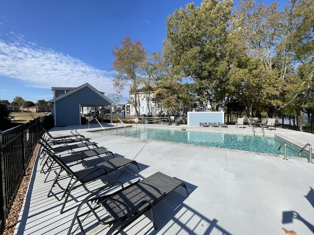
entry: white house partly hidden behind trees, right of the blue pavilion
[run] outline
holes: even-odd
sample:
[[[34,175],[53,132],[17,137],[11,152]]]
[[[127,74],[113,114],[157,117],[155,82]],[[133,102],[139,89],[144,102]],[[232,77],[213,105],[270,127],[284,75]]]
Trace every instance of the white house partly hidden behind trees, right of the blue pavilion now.
[[[165,115],[166,113],[163,111],[163,104],[155,102],[155,92],[150,91],[149,93],[144,92],[143,89],[138,90],[137,100],[137,111],[141,116],[159,116]],[[130,100],[134,100],[135,93],[129,93]],[[148,102],[147,102],[148,101]],[[125,104],[125,113],[126,115],[135,116],[135,107],[131,103]]]

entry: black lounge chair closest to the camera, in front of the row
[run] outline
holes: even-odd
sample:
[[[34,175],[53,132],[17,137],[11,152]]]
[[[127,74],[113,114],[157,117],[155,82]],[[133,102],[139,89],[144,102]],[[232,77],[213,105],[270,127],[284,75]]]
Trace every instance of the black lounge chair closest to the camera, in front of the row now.
[[[117,191],[94,197],[104,191],[107,193],[113,184],[108,185],[95,191],[95,193],[81,202],[70,225],[68,235],[70,235],[76,220],[78,221],[81,233],[85,235],[80,217],[85,217],[90,212],[95,215],[100,224],[111,226],[106,233],[107,235],[113,234],[116,230],[117,232],[114,234],[123,231],[146,211],[150,211],[154,229],[157,230],[154,214],[154,206],[157,202],[180,186],[186,189],[188,195],[186,184],[183,181],[174,179],[161,172],[157,172],[144,180],[138,180],[129,186],[124,187],[121,182],[118,183],[121,188]],[[89,211],[79,214],[84,204],[87,204]],[[105,209],[108,215],[104,219],[101,219],[96,212],[101,207]],[[108,217],[111,217],[111,219],[108,219]]]

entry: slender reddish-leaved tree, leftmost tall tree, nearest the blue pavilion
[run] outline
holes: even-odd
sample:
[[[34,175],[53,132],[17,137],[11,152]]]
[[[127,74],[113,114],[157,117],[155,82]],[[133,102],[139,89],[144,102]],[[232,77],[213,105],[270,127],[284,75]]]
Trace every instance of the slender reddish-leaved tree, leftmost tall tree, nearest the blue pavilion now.
[[[131,42],[130,37],[124,37],[121,47],[115,46],[112,50],[115,60],[112,68],[116,71],[116,77],[113,79],[115,90],[120,92],[125,85],[130,85],[130,93],[134,93],[134,100],[130,100],[135,107],[137,117],[140,116],[138,90],[143,80],[140,77],[140,69],[145,60],[146,49],[142,47],[141,41]]]

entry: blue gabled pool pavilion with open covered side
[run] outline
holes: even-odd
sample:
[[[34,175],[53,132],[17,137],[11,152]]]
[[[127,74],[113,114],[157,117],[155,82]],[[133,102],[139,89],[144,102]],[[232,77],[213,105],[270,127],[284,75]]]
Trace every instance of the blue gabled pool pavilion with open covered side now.
[[[58,88],[53,88],[57,90]],[[60,88],[65,91],[64,88]],[[54,94],[57,94],[54,91]],[[78,88],[64,92],[49,101],[52,104],[54,126],[81,125],[82,107],[110,106],[110,120],[112,122],[111,106],[113,102],[103,93],[96,90],[90,84],[85,83]]]

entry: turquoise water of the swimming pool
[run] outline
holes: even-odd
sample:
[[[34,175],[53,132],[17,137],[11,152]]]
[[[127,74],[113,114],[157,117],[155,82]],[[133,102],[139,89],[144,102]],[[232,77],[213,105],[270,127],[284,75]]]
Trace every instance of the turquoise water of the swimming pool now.
[[[277,154],[277,149],[282,143],[282,140],[277,137],[153,128],[127,131],[127,134],[121,133],[118,135],[270,154]],[[299,151],[301,149],[298,146],[288,142],[286,143],[287,156],[299,157]],[[280,149],[279,154],[284,155],[284,146]],[[302,157],[307,158],[308,154],[303,151]]]

